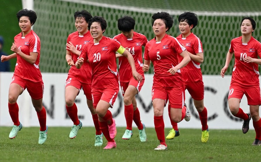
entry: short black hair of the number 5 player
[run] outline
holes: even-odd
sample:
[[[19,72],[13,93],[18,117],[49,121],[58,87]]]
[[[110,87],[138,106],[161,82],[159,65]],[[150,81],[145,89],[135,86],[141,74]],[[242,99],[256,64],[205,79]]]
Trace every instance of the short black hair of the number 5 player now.
[[[172,27],[173,22],[174,22],[173,17],[167,12],[158,12],[158,13],[153,14],[153,16],[152,16],[152,26],[153,26],[154,21],[156,19],[162,19],[163,22],[166,25],[166,28],[168,28],[168,30],[170,30],[170,28]]]

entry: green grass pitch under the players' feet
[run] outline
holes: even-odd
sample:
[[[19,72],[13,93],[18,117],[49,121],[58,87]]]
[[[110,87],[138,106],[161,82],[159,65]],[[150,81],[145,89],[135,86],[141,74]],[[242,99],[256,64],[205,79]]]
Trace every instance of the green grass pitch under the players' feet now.
[[[9,139],[11,128],[0,127],[0,161],[260,161],[259,146],[251,146],[255,131],[210,130],[207,143],[200,141],[199,129],[180,129],[181,135],[167,140],[168,150],[155,151],[159,144],[154,128],[146,128],[148,141],[139,141],[137,128],[130,140],[121,139],[125,128],[117,128],[117,148],[104,150],[94,146],[94,127],[83,127],[75,139],[69,139],[69,127],[49,127],[46,143],[38,144],[39,128],[23,128]],[[169,129],[165,129],[167,135]]]

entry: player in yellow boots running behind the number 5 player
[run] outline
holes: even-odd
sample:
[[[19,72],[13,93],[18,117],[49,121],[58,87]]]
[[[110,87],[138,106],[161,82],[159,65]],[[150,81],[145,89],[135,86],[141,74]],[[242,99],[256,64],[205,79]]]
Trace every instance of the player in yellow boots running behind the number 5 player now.
[[[184,12],[179,16],[178,21],[181,34],[176,38],[186,48],[191,58],[188,65],[180,70],[185,83],[185,90],[189,91],[199,113],[202,124],[201,141],[207,142],[209,139],[209,130],[207,125],[207,109],[204,106],[204,83],[200,68],[200,64],[204,60],[203,48],[200,39],[191,32],[197,26],[197,15],[193,12]],[[182,57],[179,56],[178,60],[181,61]],[[171,125],[173,129],[169,132],[166,139],[173,139],[180,134],[177,123],[171,121]]]

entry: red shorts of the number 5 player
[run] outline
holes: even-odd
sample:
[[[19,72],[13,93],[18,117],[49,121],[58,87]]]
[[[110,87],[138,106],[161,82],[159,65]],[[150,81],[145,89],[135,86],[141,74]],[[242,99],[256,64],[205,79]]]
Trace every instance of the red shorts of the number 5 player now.
[[[155,98],[165,100],[165,106],[169,100],[171,108],[182,108],[185,101],[184,86],[162,87],[159,85],[153,85],[152,100]]]

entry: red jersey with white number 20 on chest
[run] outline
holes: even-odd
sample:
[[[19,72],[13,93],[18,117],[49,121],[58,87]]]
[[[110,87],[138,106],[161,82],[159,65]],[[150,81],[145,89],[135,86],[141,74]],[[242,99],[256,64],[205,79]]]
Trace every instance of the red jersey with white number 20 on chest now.
[[[79,58],[89,59],[92,67],[92,88],[119,87],[116,51],[120,43],[103,36],[99,43],[91,40],[84,45]]]

